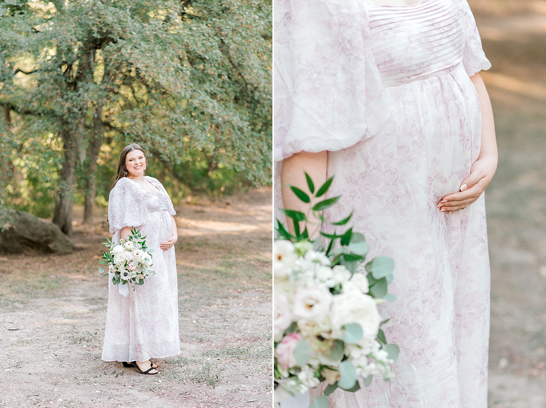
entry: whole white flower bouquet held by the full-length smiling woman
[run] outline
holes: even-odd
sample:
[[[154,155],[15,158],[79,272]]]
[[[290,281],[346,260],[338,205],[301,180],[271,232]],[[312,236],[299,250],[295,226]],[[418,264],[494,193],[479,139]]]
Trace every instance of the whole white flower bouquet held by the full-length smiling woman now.
[[[116,245],[109,238],[104,246],[110,248],[110,252],[104,251],[99,263],[108,265],[108,271],[102,267],[99,272],[103,276],[112,276],[114,285],[129,285],[133,283],[133,291],[136,285],[144,285],[146,276],[155,274],[152,269],[152,249],[148,249],[145,241],[146,236],[140,236],[140,229],[137,231],[131,229],[129,238],[120,239],[120,244]]]

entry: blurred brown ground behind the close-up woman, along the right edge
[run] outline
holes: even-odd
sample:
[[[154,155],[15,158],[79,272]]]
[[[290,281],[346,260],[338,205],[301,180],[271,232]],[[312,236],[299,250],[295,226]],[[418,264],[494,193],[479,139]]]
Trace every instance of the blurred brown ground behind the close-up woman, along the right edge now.
[[[546,2],[471,0],[492,69],[499,163],[485,194],[490,408],[546,406]],[[526,8],[525,8],[525,7]],[[531,13],[532,10],[535,10]]]

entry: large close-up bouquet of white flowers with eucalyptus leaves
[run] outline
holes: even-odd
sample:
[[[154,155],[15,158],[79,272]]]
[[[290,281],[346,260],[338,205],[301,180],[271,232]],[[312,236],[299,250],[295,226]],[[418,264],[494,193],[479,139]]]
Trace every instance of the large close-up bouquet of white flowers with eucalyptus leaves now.
[[[311,194],[314,185],[306,174]],[[334,205],[339,197],[322,197],[332,179],[309,197],[304,191],[291,186],[298,198],[308,203],[310,211],[328,224],[322,211]],[[308,215],[294,210],[283,210],[294,220],[290,234],[277,220],[277,240],[274,247],[274,336],[275,336],[275,401],[304,393],[321,381],[328,383],[324,394],[336,388],[354,392],[360,388],[358,376],[366,386],[374,375],[385,381],[393,377],[390,365],[398,357],[399,348],[387,344],[379,328],[386,323],[377,305],[395,300],[387,293],[393,280],[394,261],[379,256],[366,263],[364,270],[357,268],[364,262],[369,245],[362,234],[352,228],[338,234],[321,231],[322,239],[308,239]],[[349,222],[333,222],[343,226]],[[304,223],[301,231],[299,223]],[[333,227],[334,229],[336,227]],[[325,240],[325,242],[324,242]],[[329,242],[328,242],[329,240]],[[339,240],[339,244],[336,242]],[[358,270],[357,270],[358,269]],[[323,395],[315,399],[311,408],[328,408]]]

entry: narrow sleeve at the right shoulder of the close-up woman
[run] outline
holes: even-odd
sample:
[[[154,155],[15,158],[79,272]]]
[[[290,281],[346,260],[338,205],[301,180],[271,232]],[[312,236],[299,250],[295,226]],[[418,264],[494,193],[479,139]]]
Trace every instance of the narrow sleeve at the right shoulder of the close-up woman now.
[[[482,48],[482,39],[479,36],[476,20],[470,10],[467,0],[453,0],[453,4],[459,9],[462,25],[465,31],[465,49],[462,55],[462,65],[468,76],[472,76],[482,69],[491,68],[491,63],[485,56]]]

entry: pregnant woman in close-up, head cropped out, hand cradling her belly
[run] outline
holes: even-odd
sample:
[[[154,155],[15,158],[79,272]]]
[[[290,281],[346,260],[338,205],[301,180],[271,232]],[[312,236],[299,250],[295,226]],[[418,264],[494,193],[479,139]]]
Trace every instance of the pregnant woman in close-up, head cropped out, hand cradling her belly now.
[[[330,406],[486,408],[497,148],[466,0],[278,0],[275,30],[277,206],[304,209],[287,187],[304,170],[335,176],[325,216],[354,211],[370,258],[396,264],[382,310],[395,379]]]

